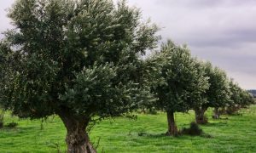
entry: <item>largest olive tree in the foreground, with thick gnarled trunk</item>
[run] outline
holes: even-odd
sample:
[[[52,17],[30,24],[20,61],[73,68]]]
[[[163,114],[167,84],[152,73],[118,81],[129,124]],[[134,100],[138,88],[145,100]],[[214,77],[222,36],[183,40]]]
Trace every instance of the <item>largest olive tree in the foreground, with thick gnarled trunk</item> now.
[[[60,116],[67,152],[96,152],[90,124],[150,99],[140,56],[155,47],[158,28],[125,1],[19,0],[9,18],[15,29],[4,41],[19,58],[1,103],[20,117]]]

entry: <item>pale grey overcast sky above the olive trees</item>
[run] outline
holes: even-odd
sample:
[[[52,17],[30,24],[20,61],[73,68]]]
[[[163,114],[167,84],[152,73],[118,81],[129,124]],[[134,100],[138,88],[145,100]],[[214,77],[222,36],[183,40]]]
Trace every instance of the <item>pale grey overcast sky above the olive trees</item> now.
[[[0,0],[0,31],[9,28]],[[193,55],[228,72],[241,88],[256,88],[256,0],[128,0],[160,26],[162,41],[188,44]],[[3,36],[0,36],[3,37]]]

